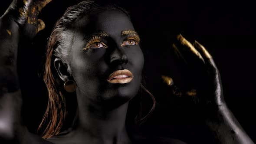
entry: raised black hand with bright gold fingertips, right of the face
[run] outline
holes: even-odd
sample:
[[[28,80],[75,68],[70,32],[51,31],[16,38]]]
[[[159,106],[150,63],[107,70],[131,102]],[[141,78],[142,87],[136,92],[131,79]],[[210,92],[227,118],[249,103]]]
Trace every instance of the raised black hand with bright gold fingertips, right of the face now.
[[[220,73],[209,52],[197,41],[192,45],[181,35],[177,36],[173,50],[184,83],[181,88],[172,85],[174,95],[192,99],[206,113],[225,104]],[[171,79],[163,79],[171,85]]]

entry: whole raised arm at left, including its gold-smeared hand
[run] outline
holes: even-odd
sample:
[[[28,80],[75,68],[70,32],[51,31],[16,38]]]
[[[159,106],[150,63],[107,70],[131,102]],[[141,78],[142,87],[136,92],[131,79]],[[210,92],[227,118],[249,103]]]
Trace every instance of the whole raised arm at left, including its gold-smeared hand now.
[[[21,138],[26,127],[21,118],[21,92],[17,74],[20,39],[28,43],[44,28],[39,11],[50,0],[13,0],[0,17],[0,141]]]

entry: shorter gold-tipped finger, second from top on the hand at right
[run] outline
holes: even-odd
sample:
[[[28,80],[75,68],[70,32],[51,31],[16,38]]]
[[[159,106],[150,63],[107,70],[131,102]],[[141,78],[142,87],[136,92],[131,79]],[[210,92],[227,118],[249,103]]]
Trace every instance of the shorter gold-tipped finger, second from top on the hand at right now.
[[[198,52],[201,53],[201,56],[203,57],[203,59],[205,60],[205,63],[207,65],[211,65],[214,68],[216,68],[215,62],[213,61],[212,56],[210,55],[210,53],[207,51],[207,49],[205,49],[204,46],[202,46],[200,43],[198,43],[197,41],[194,42],[194,47],[198,50]]]

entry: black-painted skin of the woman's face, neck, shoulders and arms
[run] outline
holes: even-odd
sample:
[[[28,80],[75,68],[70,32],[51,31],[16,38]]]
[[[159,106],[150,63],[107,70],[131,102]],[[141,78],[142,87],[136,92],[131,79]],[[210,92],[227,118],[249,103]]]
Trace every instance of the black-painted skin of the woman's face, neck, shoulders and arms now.
[[[38,1],[29,1],[27,7],[30,7],[30,2],[37,3]],[[43,0],[43,3],[48,2],[49,0]],[[60,70],[59,68],[64,64],[61,59],[55,59],[54,64],[59,77],[64,82],[73,79],[77,83],[78,125],[68,134],[47,140],[30,134],[20,116],[22,99],[16,72],[16,57],[21,37],[33,38],[37,33],[36,29],[42,27],[42,22],[29,24],[27,17],[19,15],[19,8],[24,7],[23,0],[14,1],[10,7],[14,9],[8,9],[0,18],[1,141],[10,144],[153,143],[150,139],[144,138],[131,140],[125,129],[128,102],[138,92],[144,58],[139,45],[121,46],[125,39],[121,36],[121,32],[135,29],[128,16],[118,10],[100,10],[76,21],[70,29],[70,33],[74,33],[75,36],[73,45],[70,46],[67,69]],[[37,15],[35,17],[37,18]],[[20,21],[25,23],[20,23]],[[11,34],[7,32],[7,29]],[[89,49],[83,52],[84,37],[103,31],[109,35],[108,39],[103,39],[108,48]],[[211,104],[204,108],[211,115],[205,115],[203,118],[215,134],[217,143],[253,144],[223,100],[220,74],[213,59],[207,57],[199,43],[195,43],[195,48],[204,60],[198,59],[198,56],[194,55],[187,45],[180,44],[182,39],[181,36],[178,38],[177,51],[187,62],[191,60],[193,65],[203,65],[208,70],[206,72],[209,78],[207,83],[211,89],[205,93],[207,95],[205,101],[211,101]],[[134,75],[132,81],[125,85],[108,83],[106,81],[108,75],[118,69],[130,70]],[[206,71],[206,69],[201,70]],[[203,115],[202,111],[199,112]],[[181,141],[170,138],[158,139],[154,143],[159,144],[164,141],[170,144],[183,144]]]

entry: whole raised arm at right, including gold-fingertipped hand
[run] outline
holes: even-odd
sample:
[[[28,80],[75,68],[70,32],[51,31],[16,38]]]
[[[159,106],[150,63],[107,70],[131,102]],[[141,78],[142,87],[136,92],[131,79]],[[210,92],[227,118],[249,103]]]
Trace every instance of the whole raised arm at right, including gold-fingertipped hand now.
[[[182,75],[188,81],[183,93],[191,88],[196,89],[196,95],[186,96],[198,99],[197,112],[215,137],[216,143],[254,144],[226,106],[220,73],[209,52],[200,43],[195,41],[192,45],[181,35],[177,36],[173,48],[184,72]]]

